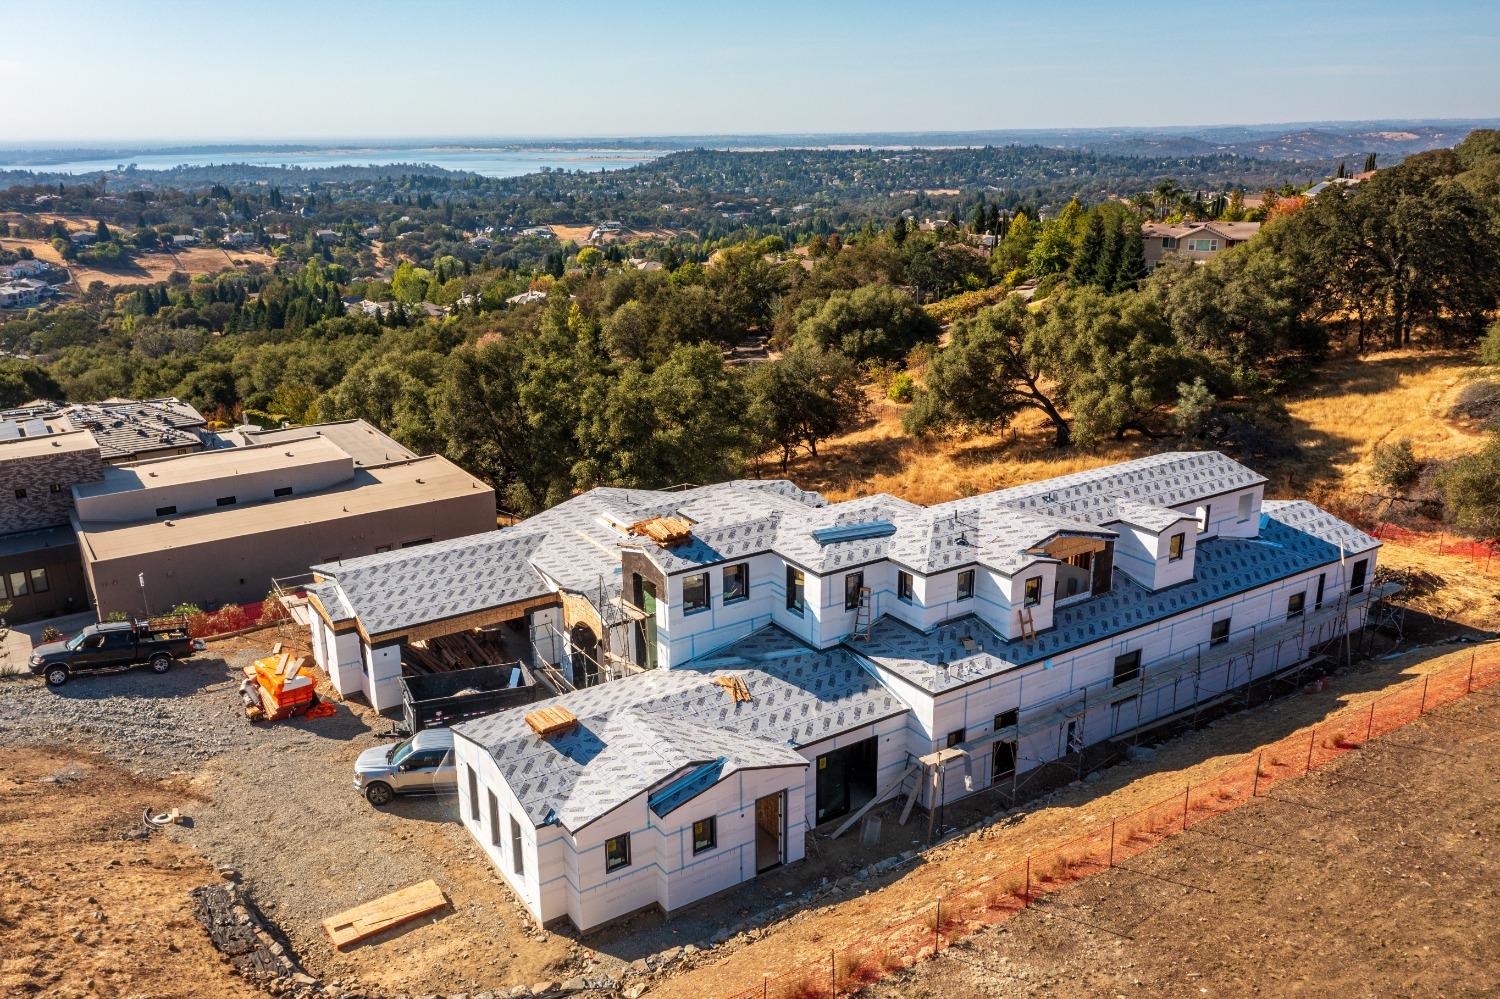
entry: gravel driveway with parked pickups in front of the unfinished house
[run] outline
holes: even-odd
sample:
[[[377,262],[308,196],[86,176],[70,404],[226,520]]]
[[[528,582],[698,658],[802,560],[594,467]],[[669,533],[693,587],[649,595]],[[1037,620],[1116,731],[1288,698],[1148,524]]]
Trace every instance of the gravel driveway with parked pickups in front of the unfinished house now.
[[[0,747],[60,744],[152,777],[178,776],[182,801],[150,802],[188,814],[190,824],[168,834],[232,868],[326,981],[452,993],[579,968],[570,940],[524,916],[458,822],[456,795],[376,810],[352,789],[354,758],[394,741],[392,720],[339,704],[327,718],[249,724],[237,690],[258,654],[210,648],[160,676],[136,669],[56,688],[34,676],[0,680]],[[322,918],[428,878],[450,912],[348,952],[328,945]]]

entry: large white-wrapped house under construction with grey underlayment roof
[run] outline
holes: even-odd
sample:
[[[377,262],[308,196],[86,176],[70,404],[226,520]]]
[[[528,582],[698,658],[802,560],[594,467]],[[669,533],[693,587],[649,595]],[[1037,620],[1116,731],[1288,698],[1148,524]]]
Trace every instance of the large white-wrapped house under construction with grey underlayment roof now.
[[[788,482],[592,489],[504,531],[314,567],[334,687],[508,628],[579,687],[454,728],[460,814],[540,922],[664,910],[916,788],[936,808],[1305,663],[1378,542],[1215,453],[934,507]]]

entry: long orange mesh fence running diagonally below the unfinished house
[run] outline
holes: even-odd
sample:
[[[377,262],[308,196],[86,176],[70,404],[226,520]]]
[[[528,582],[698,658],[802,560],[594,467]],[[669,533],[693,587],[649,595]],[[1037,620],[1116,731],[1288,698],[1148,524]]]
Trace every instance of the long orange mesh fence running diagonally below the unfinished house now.
[[[766,975],[726,999],[838,999],[922,962],[954,940],[1010,920],[1036,898],[1106,872],[1184,830],[1232,812],[1282,780],[1300,777],[1416,720],[1436,706],[1500,682],[1500,648],[1410,680],[1350,706],[1308,732],[1258,748],[1182,794],[1113,819],[1068,843],[938,898],[930,909],[876,930],[858,944],[780,975]]]

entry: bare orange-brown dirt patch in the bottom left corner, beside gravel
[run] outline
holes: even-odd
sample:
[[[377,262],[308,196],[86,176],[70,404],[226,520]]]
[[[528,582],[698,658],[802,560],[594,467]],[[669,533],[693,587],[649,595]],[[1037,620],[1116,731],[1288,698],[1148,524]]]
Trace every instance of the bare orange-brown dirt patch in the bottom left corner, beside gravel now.
[[[196,802],[178,780],[94,753],[22,747],[0,768],[0,996],[249,999],[194,921],[188,891],[219,878],[141,828],[146,806]]]

